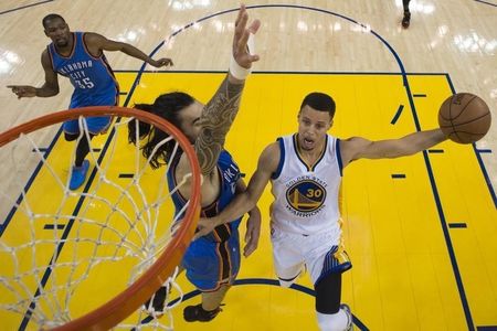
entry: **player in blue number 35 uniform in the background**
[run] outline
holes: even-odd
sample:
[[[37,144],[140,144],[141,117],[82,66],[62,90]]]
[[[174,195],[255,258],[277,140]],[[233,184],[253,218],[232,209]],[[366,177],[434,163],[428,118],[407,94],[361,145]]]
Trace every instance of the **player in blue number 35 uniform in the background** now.
[[[8,86],[19,98],[57,95],[59,74],[70,78],[74,86],[68,108],[118,105],[119,86],[104,51],[120,51],[155,67],[172,65],[170,58],[155,61],[127,43],[112,41],[97,33],[71,32],[65,20],[59,14],[49,14],[42,22],[45,35],[52,40],[52,43],[43,51],[41,58],[45,72],[45,84],[42,87]],[[110,120],[112,118],[108,116],[86,118],[89,138],[105,134]],[[78,120],[64,122],[63,130],[67,141],[77,140],[80,137]],[[85,181],[89,168],[88,160],[85,160],[88,152],[89,142],[86,137],[82,137],[76,147],[75,164],[70,181],[71,190],[76,190]]]

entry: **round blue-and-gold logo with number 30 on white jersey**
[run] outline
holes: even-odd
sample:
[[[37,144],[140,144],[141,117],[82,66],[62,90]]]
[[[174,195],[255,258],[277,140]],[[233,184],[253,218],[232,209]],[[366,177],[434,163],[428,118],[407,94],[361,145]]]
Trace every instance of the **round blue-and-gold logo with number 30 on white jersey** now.
[[[298,181],[286,191],[286,201],[296,211],[310,213],[318,210],[326,199],[325,188],[310,180]]]

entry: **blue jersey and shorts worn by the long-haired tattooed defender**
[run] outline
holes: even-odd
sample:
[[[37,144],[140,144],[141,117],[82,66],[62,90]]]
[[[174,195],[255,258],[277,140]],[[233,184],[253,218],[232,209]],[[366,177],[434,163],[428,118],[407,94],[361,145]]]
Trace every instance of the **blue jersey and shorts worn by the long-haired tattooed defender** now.
[[[178,158],[179,159],[179,158]],[[172,161],[168,172],[169,189],[177,186],[175,179],[178,160]],[[240,169],[231,154],[223,150],[218,160],[220,177],[220,194],[209,206],[202,207],[201,216],[210,217],[219,214],[234,197]],[[178,214],[184,206],[186,199],[181,193],[172,193],[172,201]],[[178,217],[177,220],[180,220]],[[210,234],[192,242],[187,248],[182,266],[187,278],[202,291],[216,290],[222,284],[232,284],[240,270],[239,225],[241,217],[228,224],[219,225]]]

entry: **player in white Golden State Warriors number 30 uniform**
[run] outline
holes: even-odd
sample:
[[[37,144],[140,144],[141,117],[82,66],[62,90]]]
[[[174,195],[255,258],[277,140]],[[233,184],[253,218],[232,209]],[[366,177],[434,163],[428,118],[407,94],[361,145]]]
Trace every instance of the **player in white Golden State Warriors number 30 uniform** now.
[[[289,287],[306,266],[314,281],[322,331],[352,330],[350,309],[340,305],[341,274],[351,268],[341,247],[339,188],[343,169],[358,159],[414,154],[446,139],[435,129],[392,140],[340,140],[327,135],[334,115],[330,96],[307,95],[298,113],[298,132],[267,146],[247,190],[220,215],[200,220],[195,235],[200,237],[253,209],[271,181],[275,199],[271,235],[279,284]]]

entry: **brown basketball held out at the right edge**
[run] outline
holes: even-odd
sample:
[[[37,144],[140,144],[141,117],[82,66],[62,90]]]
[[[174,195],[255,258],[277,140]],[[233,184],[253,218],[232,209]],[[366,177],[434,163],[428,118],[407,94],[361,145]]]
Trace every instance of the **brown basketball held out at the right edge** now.
[[[488,132],[490,124],[487,104],[470,93],[450,96],[438,110],[440,128],[448,139],[458,143],[478,141]]]

